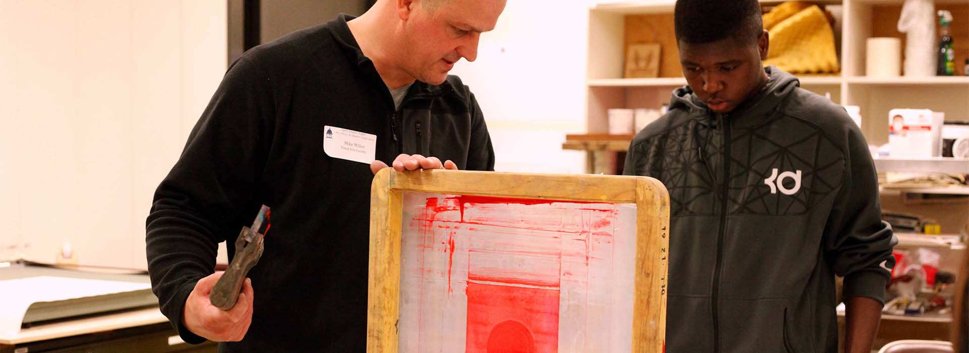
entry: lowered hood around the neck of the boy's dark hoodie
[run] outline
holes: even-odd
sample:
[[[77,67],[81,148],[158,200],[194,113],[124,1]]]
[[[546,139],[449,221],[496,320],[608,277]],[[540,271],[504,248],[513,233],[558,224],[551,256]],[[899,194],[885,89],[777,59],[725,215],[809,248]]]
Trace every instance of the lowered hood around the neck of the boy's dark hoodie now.
[[[770,111],[777,109],[797,87],[800,87],[800,81],[795,75],[777,70],[773,65],[766,67],[764,71],[769,76],[764,89],[730,113],[731,123],[737,128],[747,128],[762,122],[763,119],[756,118],[764,117]],[[702,120],[704,124],[716,117],[706,103],[693,93],[689,85],[672,91],[670,110],[672,109],[685,109],[691,116]]]

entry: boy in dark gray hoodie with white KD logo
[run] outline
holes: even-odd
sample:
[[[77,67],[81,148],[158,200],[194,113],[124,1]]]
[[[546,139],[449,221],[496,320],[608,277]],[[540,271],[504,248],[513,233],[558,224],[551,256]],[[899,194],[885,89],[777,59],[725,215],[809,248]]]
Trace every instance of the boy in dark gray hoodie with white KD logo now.
[[[688,86],[633,139],[625,173],[670,191],[667,352],[868,353],[897,243],[844,108],[764,68],[757,0],[678,0]]]

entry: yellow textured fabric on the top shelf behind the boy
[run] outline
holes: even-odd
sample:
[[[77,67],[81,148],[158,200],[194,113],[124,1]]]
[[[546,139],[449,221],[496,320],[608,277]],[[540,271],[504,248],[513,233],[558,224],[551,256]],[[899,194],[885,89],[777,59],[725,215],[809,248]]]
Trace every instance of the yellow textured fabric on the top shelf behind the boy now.
[[[818,6],[811,5],[781,20],[767,32],[770,33],[770,48],[765,65],[795,74],[840,72],[834,52],[834,31],[828,16]]]

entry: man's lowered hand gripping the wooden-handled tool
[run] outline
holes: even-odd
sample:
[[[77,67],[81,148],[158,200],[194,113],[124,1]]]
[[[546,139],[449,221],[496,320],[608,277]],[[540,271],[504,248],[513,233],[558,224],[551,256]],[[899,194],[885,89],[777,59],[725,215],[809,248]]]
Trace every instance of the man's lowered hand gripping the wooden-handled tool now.
[[[218,309],[209,302],[208,295],[223,274],[225,272],[219,271],[199,279],[185,301],[181,322],[193,334],[203,338],[217,342],[242,340],[252,323],[252,281],[245,279],[242,283],[242,293],[232,309]]]

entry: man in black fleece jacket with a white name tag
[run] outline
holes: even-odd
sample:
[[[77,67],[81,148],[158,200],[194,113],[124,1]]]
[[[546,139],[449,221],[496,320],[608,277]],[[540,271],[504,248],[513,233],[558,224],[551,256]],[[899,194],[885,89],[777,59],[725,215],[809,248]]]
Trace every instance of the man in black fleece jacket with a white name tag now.
[[[232,65],[147,218],[152,288],[181,338],[223,352],[364,351],[372,173],[494,168],[482,111],[448,72],[475,60],[504,6],[380,0]],[[331,129],[374,135],[370,167],[325,150]],[[263,257],[234,308],[216,309],[217,246],[233,254],[262,204]]]

